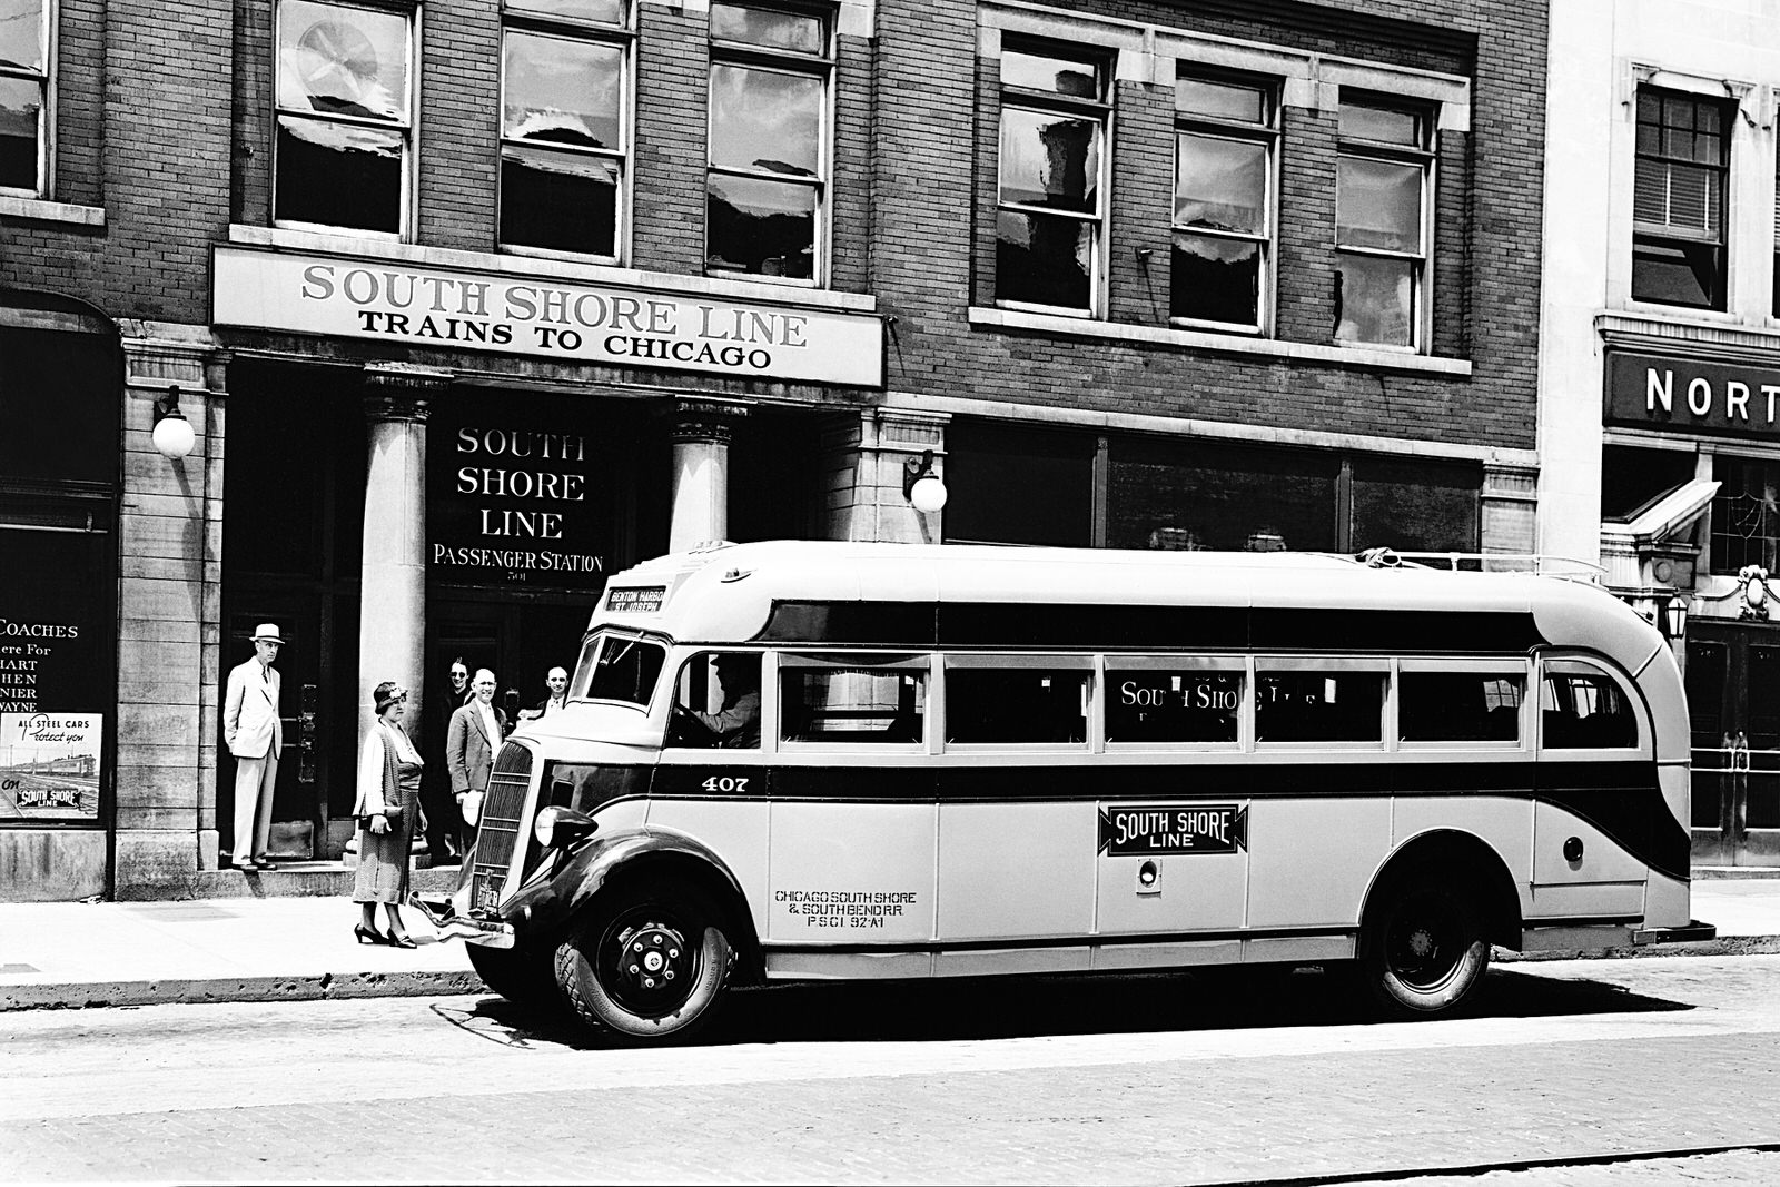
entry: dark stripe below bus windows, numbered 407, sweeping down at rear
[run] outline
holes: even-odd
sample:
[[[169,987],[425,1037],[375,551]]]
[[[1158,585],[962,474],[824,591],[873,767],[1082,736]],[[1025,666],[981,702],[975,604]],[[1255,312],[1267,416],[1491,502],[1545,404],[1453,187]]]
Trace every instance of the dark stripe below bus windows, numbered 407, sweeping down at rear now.
[[[710,795],[710,779],[746,778]],[[1257,765],[1193,762],[1043,767],[659,765],[659,797],[831,803],[1118,803],[1141,799],[1283,799],[1513,795],[1570,812],[1657,874],[1687,881],[1691,840],[1663,803],[1657,765],[1534,762],[1360,762]]]

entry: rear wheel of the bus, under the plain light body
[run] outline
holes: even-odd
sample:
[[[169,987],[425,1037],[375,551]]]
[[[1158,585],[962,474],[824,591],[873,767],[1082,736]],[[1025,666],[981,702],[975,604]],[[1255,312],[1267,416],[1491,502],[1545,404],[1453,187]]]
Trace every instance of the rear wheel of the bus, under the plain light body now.
[[[1388,888],[1362,933],[1365,986],[1399,1018],[1458,1009],[1488,968],[1490,943],[1476,904],[1435,876],[1412,876]]]

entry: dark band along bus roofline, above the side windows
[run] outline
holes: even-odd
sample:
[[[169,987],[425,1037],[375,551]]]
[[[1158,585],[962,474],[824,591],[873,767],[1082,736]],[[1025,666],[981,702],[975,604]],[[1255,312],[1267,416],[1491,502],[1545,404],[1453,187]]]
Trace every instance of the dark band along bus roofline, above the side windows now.
[[[774,602],[756,642],[1111,651],[1525,653],[1547,642],[1513,610],[1317,610],[1029,602]]]

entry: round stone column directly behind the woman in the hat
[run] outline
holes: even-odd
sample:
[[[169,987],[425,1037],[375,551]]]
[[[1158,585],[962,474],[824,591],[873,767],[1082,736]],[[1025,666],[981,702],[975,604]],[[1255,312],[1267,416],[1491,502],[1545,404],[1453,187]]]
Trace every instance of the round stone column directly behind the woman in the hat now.
[[[370,730],[372,690],[408,689],[408,717],[425,712],[427,402],[450,386],[443,370],[365,367],[365,548],[358,612],[358,733]]]

